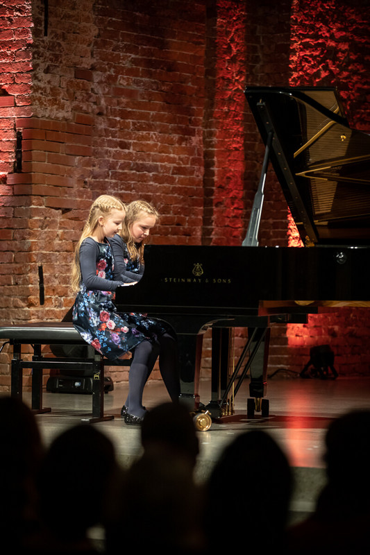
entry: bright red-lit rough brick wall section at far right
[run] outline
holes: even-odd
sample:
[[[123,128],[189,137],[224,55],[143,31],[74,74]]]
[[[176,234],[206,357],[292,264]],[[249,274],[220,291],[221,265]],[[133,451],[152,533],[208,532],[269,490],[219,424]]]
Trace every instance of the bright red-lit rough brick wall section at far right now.
[[[337,87],[352,128],[370,132],[369,6],[366,1],[298,0],[292,7],[291,85]],[[369,311],[344,308],[287,329],[275,364],[300,371],[310,347],[329,344],[346,375],[369,375]],[[274,360],[271,359],[274,363]]]

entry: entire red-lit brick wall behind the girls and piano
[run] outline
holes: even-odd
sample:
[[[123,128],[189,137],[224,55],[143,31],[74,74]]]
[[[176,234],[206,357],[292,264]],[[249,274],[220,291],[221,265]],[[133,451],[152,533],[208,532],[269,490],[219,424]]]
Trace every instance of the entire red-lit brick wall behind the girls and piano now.
[[[321,3],[313,11],[303,0],[49,0],[47,12],[42,0],[4,1],[0,321],[62,318],[73,302],[74,241],[103,192],[155,203],[156,244],[240,244],[264,153],[245,85],[336,83],[351,121],[366,128],[362,3],[330,10],[332,24]],[[260,245],[287,241],[287,206],[270,169]],[[355,365],[368,329],[360,314],[274,331],[271,371],[301,370],[309,346],[334,337],[340,355],[346,317],[353,341],[339,370],[368,372],[368,360]],[[237,348],[243,343],[237,330]],[[209,344],[206,336],[205,371]],[[8,390],[8,352],[0,357],[0,389]]]

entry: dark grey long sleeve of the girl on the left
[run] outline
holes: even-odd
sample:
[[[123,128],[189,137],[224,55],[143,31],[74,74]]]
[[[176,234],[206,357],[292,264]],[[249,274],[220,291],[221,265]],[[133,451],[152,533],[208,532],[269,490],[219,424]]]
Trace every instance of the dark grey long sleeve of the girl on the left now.
[[[110,246],[107,244],[107,248]],[[80,247],[80,268],[86,289],[98,291],[115,291],[123,285],[123,280],[107,280],[96,275],[96,262],[99,258],[99,244],[91,237],[83,240]]]

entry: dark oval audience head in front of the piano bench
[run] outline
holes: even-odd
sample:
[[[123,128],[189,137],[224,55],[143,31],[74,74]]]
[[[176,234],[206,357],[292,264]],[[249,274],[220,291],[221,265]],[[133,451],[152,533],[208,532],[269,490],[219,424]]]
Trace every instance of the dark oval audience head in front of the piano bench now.
[[[40,472],[40,513],[52,540],[76,543],[104,519],[117,475],[115,449],[92,425],[67,429],[51,443]]]

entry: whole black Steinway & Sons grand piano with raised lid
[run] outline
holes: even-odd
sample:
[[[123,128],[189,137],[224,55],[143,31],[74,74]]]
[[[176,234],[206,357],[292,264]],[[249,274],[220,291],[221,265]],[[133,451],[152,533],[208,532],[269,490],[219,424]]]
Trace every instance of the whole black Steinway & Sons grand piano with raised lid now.
[[[147,312],[174,327],[181,398],[199,413],[199,429],[230,416],[230,395],[248,371],[248,416],[269,414],[271,325],[305,323],[308,314],[370,302],[369,135],[349,127],[335,89],[247,87],[245,95],[265,154],[242,246],[148,245],[142,280],[116,293],[119,310]],[[258,246],[269,162],[303,248]],[[201,402],[202,338],[210,327],[212,392]],[[235,327],[246,327],[248,339],[226,371]]]

